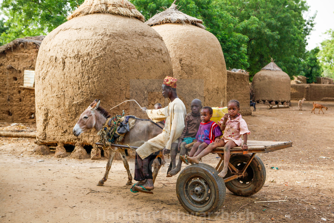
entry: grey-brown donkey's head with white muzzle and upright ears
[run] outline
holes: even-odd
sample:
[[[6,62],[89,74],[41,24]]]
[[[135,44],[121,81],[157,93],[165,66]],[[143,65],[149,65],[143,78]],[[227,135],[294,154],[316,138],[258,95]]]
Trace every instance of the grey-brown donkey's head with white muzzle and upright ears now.
[[[99,107],[100,99],[95,99],[88,108],[82,112],[78,122],[74,125],[73,135],[79,136],[82,132],[87,132],[91,128],[99,131],[110,114],[102,107]]]

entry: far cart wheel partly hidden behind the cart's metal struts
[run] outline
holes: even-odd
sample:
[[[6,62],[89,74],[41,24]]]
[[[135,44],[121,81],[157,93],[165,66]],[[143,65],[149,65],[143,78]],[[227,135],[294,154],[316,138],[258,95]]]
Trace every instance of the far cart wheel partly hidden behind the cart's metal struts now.
[[[251,155],[231,154],[230,163],[242,170]],[[258,193],[266,181],[266,168],[261,159],[255,155],[246,169],[246,176],[226,182],[227,189],[236,195],[251,196]],[[228,170],[226,177],[232,176]]]

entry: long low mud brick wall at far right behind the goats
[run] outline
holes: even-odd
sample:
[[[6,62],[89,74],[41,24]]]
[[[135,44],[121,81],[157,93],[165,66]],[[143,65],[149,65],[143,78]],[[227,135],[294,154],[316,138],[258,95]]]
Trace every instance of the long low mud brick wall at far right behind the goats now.
[[[334,85],[332,84],[292,84],[291,100],[321,101],[334,98]],[[328,99],[325,99],[328,98]]]

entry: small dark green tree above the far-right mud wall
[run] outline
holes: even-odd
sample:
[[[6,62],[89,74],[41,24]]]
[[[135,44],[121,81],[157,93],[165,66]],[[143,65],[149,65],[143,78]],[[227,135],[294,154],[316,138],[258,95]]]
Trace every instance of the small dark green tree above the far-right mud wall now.
[[[302,61],[301,75],[307,77],[307,83],[316,82],[316,77],[321,77],[323,69],[318,59],[320,49],[316,47],[305,53],[306,59]]]

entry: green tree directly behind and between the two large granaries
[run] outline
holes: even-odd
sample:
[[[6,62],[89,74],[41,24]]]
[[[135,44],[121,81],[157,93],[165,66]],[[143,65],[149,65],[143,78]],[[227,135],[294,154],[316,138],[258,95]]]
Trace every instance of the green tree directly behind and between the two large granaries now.
[[[173,0],[132,0],[131,2],[148,20],[158,11],[164,10],[162,7],[168,8]],[[246,69],[248,67],[247,37],[240,34],[238,19],[224,10],[219,10],[222,7],[218,7],[220,2],[215,0],[179,0],[176,4],[181,6],[180,10],[183,13],[202,19],[206,30],[217,37],[224,52],[227,69]]]

